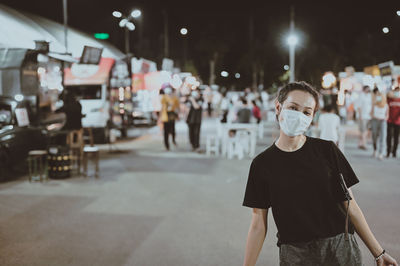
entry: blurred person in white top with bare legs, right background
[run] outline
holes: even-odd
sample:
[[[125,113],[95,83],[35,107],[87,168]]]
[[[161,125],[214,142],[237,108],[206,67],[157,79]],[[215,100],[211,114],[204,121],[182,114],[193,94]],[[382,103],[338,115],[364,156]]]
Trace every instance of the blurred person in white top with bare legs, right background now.
[[[369,86],[364,86],[363,92],[360,94],[356,106],[359,123],[358,126],[360,130],[360,140],[358,142],[358,148],[366,150],[367,135],[370,127],[372,110],[372,96]]]

